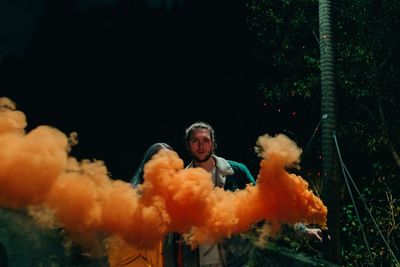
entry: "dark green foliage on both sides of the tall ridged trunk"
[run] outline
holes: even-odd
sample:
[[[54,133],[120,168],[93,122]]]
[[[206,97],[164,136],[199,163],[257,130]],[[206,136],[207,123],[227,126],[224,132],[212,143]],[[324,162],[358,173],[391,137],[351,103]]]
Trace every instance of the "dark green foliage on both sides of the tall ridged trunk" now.
[[[266,101],[285,104],[301,97],[308,100],[304,110],[318,110],[318,1],[246,2],[255,49],[264,51],[255,62],[264,73],[257,82]],[[399,178],[400,168],[400,2],[344,0],[332,4],[337,136],[342,156],[356,174],[356,184],[363,188],[369,211],[399,257],[395,240],[399,239],[400,192],[393,181]],[[306,127],[314,127],[314,123],[310,121]],[[368,265],[360,223],[346,189],[342,190],[343,264]],[[356,201],[363,209],[360,199]],[[364,210],[361,215],[375,264],[394,266],[368,213]]]

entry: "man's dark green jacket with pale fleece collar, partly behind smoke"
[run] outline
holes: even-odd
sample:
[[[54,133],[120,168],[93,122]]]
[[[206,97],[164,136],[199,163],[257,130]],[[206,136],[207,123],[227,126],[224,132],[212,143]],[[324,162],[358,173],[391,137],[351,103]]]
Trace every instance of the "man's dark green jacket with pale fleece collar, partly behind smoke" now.
[[[236,189],[244,189],[247,184],[255,184],[256,181],[251,175],[246,165],[213,155],[216,162],[217,185],[225,190],[235,191]],[[189,164],[187,168],[193,167]],[[179,234],[170,234],[164,241],[164,262],[166,267],[175,267],[178,254],[178,241],[181,239]],[[242,235],[234,235],[231,238],[224,239],[220,243],[221,248],[225,251],[226,267],[243,266],[247,261],[251,244],[242,237]],[[190,246],[183,244],[183,266],[198,267],[199,266],[199,250],[192,250]]]

